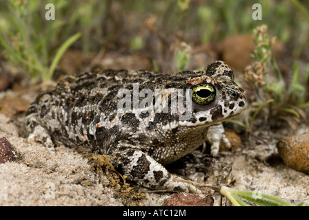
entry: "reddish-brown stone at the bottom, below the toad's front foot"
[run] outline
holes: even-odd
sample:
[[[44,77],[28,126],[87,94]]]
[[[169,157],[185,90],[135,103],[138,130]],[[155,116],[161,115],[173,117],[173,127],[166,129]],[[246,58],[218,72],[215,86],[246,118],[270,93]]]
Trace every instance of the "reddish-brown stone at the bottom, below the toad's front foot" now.
[[[213,204],[213,197],[203,198],[186,192],[174,193],[164,201],[164,206],[212,206]]]

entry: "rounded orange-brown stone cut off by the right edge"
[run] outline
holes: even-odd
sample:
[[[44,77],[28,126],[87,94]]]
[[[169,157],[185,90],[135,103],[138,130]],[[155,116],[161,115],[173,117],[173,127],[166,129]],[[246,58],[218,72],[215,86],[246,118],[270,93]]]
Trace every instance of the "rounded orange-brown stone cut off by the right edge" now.
[[[309,174],[309,133],[283,137],[277,143],[277,149],[287,166]]]

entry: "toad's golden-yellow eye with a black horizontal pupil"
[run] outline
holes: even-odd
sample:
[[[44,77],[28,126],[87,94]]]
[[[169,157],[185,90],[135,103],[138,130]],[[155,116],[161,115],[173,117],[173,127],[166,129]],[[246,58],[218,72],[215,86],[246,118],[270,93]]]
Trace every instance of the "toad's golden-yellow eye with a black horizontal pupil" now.
[[[216,89],[208,83],[196,85],[192,88],[192,100],[197,104],[209,104],[216,97]]]

